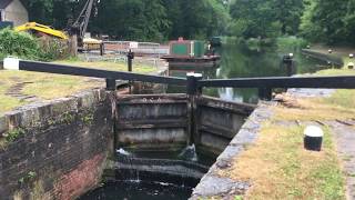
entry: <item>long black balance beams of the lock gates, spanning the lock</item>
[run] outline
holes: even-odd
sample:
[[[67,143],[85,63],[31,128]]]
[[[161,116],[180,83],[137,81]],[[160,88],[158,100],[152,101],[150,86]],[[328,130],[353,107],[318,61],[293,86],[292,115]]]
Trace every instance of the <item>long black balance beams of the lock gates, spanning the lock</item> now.
[[[197,73],[187,73],[187,78],[185,79],[88,69],[33,61],[19,61],[19,70],[102,78],[106,80],[106,87],[110,90],[115,89],[115,80],[185,86],[187,94],[196,94],[201,92],[203,88],[257,88],[260,91],[260,98],[265,100],[270,100],[272,98],[272,89],[275,88],[355,89],[355,76],[267,77],[203,80],[202,76]]]

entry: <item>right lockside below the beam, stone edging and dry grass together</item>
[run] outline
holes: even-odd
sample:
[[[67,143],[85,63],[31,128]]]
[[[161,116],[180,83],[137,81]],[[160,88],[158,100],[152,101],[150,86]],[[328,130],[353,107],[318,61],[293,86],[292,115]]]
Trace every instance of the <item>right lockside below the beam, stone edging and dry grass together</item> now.
[[[349,90],[290,89],[257,108],[191,199],[354,199],[355,110],[343,102],[354,97]],[[324,130],[321,152],[304,150],[307,126]],[[253,142],[240,147],[233,141],[245,131]]]

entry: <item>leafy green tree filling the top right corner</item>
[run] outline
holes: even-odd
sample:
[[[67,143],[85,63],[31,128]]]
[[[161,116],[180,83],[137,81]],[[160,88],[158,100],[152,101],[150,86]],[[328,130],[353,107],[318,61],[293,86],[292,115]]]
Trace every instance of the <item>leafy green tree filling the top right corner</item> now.
[[[302,34],[315,42],[354,44],[354,0],[305,0]]]

